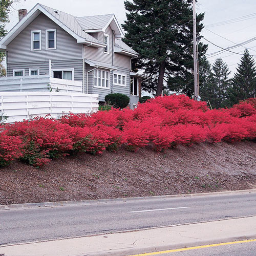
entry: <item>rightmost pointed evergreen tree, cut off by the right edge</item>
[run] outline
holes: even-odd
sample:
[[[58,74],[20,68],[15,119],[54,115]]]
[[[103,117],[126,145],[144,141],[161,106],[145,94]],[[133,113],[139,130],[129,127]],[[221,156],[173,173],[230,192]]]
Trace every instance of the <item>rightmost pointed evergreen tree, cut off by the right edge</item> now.
[[[247,98],[256,95],[256,68],[255,61],[246,49],[241,57],[237,72],[232,79],[231,87],[228,91],[229,105],[233,105]]]

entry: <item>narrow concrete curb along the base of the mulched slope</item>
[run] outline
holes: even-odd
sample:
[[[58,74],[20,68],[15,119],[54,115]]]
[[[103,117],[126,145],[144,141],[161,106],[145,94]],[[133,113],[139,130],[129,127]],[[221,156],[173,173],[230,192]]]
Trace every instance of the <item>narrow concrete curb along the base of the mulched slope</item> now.
[[[236,195],[236,194],[250,194],[250,193],[256,193],[256,189],[220,191],[220,192],[199,193],[199,194],[166,195],[166,196],[154,196],[154,197],[130,197],[130,198],[95,199],[95,200],[80,200],[80,201],[9,204],[9,205],[0,205],[0,210],[12,210],[12,209],[15,210],[15,209],[26,209],[26,208],[84,205],[84,204],[96,204],[96,203],[116,203],[116,202],[141,201],[141,200],[159,200],[159,199],[166,199],[166,198],[187,198],[187,197],[203,197],[203,196],[216,196],[216,195]]]

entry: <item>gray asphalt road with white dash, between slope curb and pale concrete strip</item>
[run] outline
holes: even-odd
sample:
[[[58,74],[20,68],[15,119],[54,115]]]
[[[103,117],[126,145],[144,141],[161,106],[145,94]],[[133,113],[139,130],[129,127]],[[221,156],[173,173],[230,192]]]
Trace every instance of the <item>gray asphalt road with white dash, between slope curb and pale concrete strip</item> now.
[[[256,193],[0,210],[0,245],[253,215]]]

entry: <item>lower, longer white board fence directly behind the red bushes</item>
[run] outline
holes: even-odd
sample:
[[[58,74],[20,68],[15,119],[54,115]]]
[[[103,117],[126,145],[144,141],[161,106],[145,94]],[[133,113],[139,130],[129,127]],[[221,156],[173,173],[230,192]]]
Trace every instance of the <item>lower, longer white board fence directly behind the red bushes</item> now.
[[[0,115],[5,122],[23,121],[35,116],[59,118],[72,112],[95,112],[99,107],[98,94],[64,92],[0,92]]]

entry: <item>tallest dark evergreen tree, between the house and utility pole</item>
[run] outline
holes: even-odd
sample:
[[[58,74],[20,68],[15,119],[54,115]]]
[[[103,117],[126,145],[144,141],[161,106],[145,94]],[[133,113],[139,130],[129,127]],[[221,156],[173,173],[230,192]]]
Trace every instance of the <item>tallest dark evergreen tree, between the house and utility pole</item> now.
[[[167,89],[194,92],[193,82],[193,9],[191,0],[124,1],[127,32],[124,42],[140,54],[134,69],[150,77],[143,89],[161,95]],[[197,15],[197,31],[203,29],[204,14]],[[199,43],[200,56],[207,46]]]

